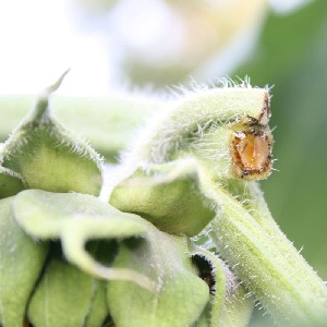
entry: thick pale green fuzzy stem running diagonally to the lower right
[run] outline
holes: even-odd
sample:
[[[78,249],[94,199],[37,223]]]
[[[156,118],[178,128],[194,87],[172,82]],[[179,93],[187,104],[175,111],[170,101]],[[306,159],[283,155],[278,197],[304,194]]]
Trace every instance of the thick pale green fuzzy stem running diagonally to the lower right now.
[[[202,173],[203,192],[220,213],[210,233],[219,252],[277,322],[322,324],[327,288],[268,216],[261,223]]]

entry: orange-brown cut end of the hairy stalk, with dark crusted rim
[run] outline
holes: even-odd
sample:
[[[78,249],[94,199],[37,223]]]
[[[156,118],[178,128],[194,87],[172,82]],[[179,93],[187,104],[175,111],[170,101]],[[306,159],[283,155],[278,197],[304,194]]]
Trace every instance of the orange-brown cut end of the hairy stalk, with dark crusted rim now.
[[[265,179],[271,171],[271,135],[263,131],[234,132],[231,141],[234,173],[246,180]]]

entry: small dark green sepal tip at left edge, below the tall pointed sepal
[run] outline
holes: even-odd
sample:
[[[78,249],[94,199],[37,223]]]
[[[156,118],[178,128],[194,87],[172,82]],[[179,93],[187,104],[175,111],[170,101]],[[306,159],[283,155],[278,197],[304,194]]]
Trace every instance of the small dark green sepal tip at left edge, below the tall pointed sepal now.
[[[17,194],[25,189],[25,181],[19,173],[0,167],[0,198]]]

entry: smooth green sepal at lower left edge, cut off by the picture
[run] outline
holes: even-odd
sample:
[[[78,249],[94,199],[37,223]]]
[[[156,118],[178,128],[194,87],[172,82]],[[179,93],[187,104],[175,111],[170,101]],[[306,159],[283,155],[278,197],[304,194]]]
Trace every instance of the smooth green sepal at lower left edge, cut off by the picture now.
[[[48,243],[27,237],[12,213],[13,197],[0,201],[0,325],[23,325],[26,306],[39,278]]]

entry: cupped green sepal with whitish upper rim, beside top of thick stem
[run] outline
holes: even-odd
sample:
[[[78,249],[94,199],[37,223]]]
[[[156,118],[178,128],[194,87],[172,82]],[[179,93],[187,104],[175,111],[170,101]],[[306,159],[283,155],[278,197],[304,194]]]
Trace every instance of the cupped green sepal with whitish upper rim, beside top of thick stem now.
[[[195,235],[215,217],[198,190],[196,173],[180,161],[136,169],[113,189],[109,203],[173,234]]]

